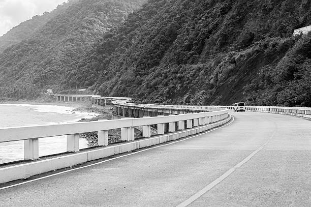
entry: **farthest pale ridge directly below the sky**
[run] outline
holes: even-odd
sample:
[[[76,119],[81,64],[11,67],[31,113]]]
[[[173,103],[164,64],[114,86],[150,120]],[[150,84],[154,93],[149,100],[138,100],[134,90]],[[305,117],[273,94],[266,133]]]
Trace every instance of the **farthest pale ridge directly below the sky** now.
[[[58,5],[52,12],[45,12],[42,15],[36,15],[32,19],[24,21],[10,29],[8,33],[0,37],[0,53],[7,47],[20,43],[22,40],[30,38],[37,30],[45,25],[51,18],[64,12],[73,1]]]

